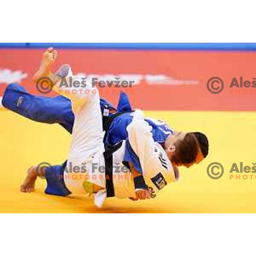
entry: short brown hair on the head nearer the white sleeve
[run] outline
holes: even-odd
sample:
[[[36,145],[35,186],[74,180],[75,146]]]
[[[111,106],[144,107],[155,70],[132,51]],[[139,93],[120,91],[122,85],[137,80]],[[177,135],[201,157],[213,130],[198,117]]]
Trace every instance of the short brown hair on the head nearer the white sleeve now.
[[[189,132],[185,135],[183,140],[177,140],[175,143],[175,153],[172,157],[174,163],[194,163],[198,156],[199,147],[198,140],[195,134]]]

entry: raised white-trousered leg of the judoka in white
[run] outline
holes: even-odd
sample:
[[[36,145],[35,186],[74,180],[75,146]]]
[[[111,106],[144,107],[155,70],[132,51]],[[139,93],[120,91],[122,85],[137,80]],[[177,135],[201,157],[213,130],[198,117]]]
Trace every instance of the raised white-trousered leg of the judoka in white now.
[[[72,77],[73,81],[80,81],[82,78],[73,76],[68,65],[61,67],[61,72],[66,79]],[[65,71],[65,72],[64,72]],[[88,180],[104,188],[105,179],[101,179],[98,169],[94,172],[92,164],[104,166],[103,152],[102,112],[100,107],[99,91],[92,84],[87,83],[86,90],[83,87],[69,87],[61,89],[60,82],[53,87],[58,93],[70,98],[72,110],[75,114],[75,122],[72,132],[72,140],[67,162],[67,169],[72,172],[72,177],[64,177],[65,184],[74,193],[84,192],[82,183],[83,168],[86,164],[86,174]],[[87,91],[87,93],[86,93]],[[79,167],[77,172],[73,172],[73,167]],[[80,177],[81,175],[81,177]],[[95,179],[93,177],[96,177]]]

